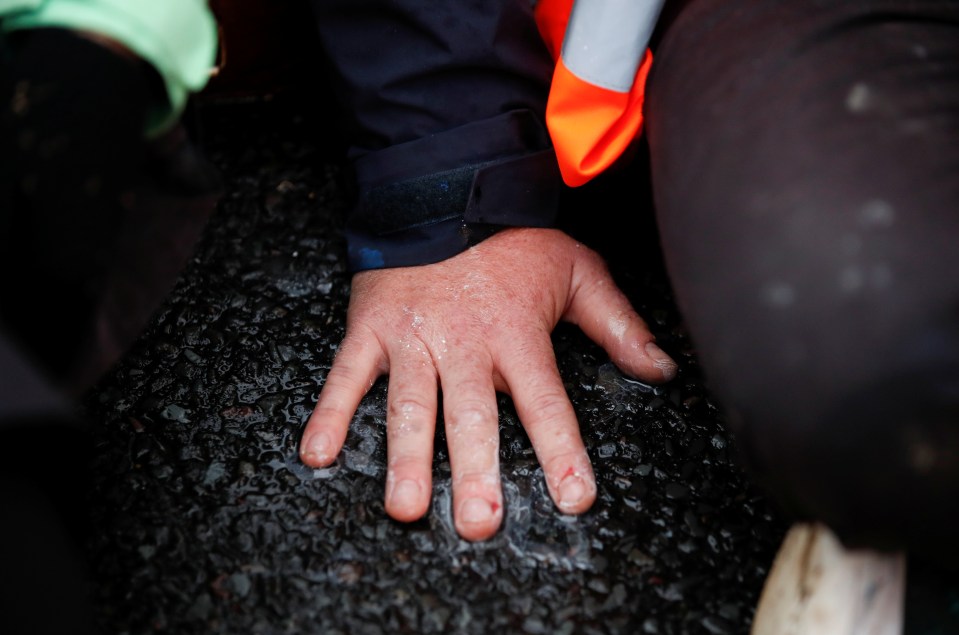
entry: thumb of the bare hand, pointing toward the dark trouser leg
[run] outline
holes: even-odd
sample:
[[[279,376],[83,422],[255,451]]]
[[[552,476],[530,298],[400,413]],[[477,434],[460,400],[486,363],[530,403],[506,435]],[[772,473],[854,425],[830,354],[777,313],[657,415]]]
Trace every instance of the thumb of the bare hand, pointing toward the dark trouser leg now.
[[[566,318],[602,346],[624,372],[659,383],[676,377],[678,366],[656,345],[656,337],[616,286],[604,264],[578,272]]]

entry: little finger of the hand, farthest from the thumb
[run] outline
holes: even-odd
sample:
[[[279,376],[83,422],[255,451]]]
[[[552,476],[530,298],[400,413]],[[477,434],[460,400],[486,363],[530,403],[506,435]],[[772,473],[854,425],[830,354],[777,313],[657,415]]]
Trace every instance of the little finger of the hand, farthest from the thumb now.
[[[360,401],[384,368],[383,350],[375,338],[347,334],[303,430],[300,459],[304,463],[322,467],[333,462]]]

